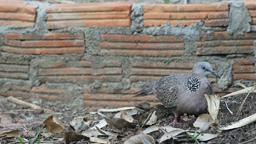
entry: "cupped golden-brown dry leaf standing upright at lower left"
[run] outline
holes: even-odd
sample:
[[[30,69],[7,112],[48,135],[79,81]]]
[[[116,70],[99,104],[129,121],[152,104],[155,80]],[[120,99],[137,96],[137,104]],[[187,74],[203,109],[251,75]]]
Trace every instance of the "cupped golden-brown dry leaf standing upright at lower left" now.
[[[44,128],[46,127],[46,129],[52,134],[66,131],[66,128],[62,122],[60,122],[60,120],[53,115],[48,116],[42,124]]]

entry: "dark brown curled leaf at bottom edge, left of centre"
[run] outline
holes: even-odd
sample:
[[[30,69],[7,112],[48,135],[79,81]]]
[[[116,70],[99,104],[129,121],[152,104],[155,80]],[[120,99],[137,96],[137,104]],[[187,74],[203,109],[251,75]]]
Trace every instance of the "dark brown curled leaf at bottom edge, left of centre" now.
[[[80,134],[79,132],[70,131],[65,134],[63,140],[59,144],[69,144],[71,142],[80,141],[86,138],[88,137]]]

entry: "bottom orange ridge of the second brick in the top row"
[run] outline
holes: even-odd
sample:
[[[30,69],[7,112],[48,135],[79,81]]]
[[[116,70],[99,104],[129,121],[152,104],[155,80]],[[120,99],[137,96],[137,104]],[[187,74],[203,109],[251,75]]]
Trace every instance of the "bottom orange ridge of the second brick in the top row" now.
[[[1,24],[1,23],[0,23]],[[58,21],[48,21],[47,28],[60,29],[68,27],[111,27],[111,26],[121,26],[129,27],[131,26],[130,18],[123,19],[95,19],[95,20],[58,20]]]

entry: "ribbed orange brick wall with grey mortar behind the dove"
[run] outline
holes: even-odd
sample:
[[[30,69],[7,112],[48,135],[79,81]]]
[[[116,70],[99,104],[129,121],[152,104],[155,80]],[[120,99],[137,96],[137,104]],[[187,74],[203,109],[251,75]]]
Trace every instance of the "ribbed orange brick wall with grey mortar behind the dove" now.
[[[132,93],[208,61],[220,75],[209,80],[223,96],[242,89],[238,82],[255,83],[255,11],[254,1],[0,0],[0,95],[72,106],[130,106],[128,100],[159,104],[154,96]]]

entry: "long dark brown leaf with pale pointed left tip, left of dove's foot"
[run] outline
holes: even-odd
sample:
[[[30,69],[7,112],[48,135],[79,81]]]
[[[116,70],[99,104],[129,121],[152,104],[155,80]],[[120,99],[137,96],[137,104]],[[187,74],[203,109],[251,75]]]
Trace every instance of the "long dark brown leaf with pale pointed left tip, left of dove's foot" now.
[[[98,112],[98,114],[100,114],[100,116],[102,116],[106,120],[106,122],[109,126],[114,126],[116,128],[135,128],[136,127],[136,125],[133,122],[127,121],[127,120],[134,121],[128,117],[129,116],[128,114],[122,113],[122,114],[120,114],[120,118],[105,116],[104,114],[101,114],[100,112]],[[118,117],[118,116],[119,116],[119,114],[116,117]],[[125,118],[126,120],[121,119],[121,117]]]

